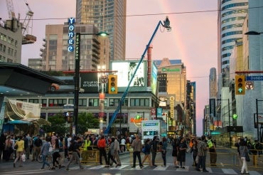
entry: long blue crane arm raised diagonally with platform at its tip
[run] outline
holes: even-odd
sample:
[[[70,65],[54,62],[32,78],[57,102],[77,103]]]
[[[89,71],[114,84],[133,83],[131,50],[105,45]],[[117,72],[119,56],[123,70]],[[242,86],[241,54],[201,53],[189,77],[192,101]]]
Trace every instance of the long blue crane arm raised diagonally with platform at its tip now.
[[[151,38],[150,38],[150,41],[149,41],[149,43],[147,44],[147,46],[146,46],[146,48],[145,48],[145,50],[144,50],[144,53],[141,55],[141,59],[139,60],[139,63],[137,64],[136,69],[134,70],[134,73],[132,74],[132,78],[129,80],[129,84],[127,85],[127,88],[126,88],[126,90],[124,91],[121,100],[119,100],[119,104],[118,104],[115,112],[114,112],[113,115],[112,115],[112,119],[109,121],[109,124],[108,124],[107,128],[104,130],[104,134],[109,134],[109,129],[112,127],[112,124],[113,124],[114,121],[116,120],[117,113],[119,112],[119,109],[120,109],[121,105],[122,105],[123,102],[124,102],[124,99],[125,99],[125,97],[126,97],[126,95],[127,95],[127,93],[128,93],[129,87],[130,87],[130,85],[131,85],[131,83],[132,83],[132,80],[134,79],[134,75],[136,74],[137,70],[139,69],[139,65],[140,65],[141,62],[144,60],[144,55],[145,55],[146,52],[148,51],[148,48],[149,48],[149,46],[151,45],[151,41],[153,41],[154,36],[156,35],[156,32],[157,32],[159,26],[162,25],[162,26],[164,26],[165,28],[168,28],[168,30],[171,30],[171,27],[170,27],[169,25],[167,25],[167,22],[168,22],[167,20],[168,20],[168,18],[166,17],[166,21],[163,21],[163,22],[164,22],[164,25],[163,25],[163,23],[162,23],[161,21],[159,21],[159,23],[157,24],[157,26],[156,26],[156,28],[155,28],[155,30],[154,30],[154,33],[152,34],[152,36],[151,36]]]

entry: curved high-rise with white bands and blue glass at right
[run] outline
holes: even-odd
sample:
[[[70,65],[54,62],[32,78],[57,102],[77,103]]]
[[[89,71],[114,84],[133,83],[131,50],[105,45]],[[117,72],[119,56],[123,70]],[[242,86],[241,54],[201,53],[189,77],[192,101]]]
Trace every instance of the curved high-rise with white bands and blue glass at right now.
[[[222,87],[229,84],[229,64],[235,41],[242,38],[248,0],[218,0],[218,74]]]

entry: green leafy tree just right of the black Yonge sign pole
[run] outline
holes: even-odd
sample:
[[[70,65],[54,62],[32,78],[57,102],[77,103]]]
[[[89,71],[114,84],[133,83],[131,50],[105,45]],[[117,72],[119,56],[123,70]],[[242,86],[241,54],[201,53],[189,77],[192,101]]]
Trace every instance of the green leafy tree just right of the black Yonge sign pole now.
[[[87,132],[87,129],[94,129],[100,127],[100,120],[97,117],[94,117],[92,113],[83,112],[78,115],[78,130],[80,134]]]

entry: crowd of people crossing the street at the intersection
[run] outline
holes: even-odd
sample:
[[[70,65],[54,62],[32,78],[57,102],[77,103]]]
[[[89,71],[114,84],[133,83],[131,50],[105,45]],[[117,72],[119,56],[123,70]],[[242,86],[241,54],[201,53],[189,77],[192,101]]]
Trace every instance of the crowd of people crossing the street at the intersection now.
[[[216,166],[217,152],[216,142],[211,137],[192,137],[186,139],[183,136],[168,138],[154,136],[153,139],[144,140],[142,144],[139,134],[135,134],[134,137],[104,137],[103,134],[92,134],[86,136],[72,136],[66,134],[66,136],[58,136],[53,133],[50,137],[41,137],[36,135],[31,137],[30,134],[24,134],[22,136],[4,135],[0,137],[0,159],[9,161],[14,160],[14,168],[19,161],[18,166],[23,166],[23,159],[30,159],[36,161],[39,157],[42,158],[43,164],[41,169],[45,169],[45,165],[48,169],[60,169],[65,167],[69,170],[70,164],[75,161],[80,169],[83,166],[80,161],[80,149],[87,151],[88,147],[97,147],[99,151],[100,164],[104,163],[105,167],[110,167],[115,164],[115,167],[122,166],[122,162],[119,159],[119,153],[125,151],[132,151],[133,164],[132,168],[136,167],[136,159],[139,161],[139,167],[144,167],[144,162],[148,161],[149,166],[156,165],[156,154],[161,152],[161,158],[163,159],[163,165],[166,166],[166,153],[167,145],[171,143],[173,164],[176,168],[185,169],[186,166],[186,153],[192,155],[192,165],[195,166],[197,171],[208,172],[205,169],[206,156],[210,154],[210,166]],[[237,147],[238,156],[242,163],[241,173],[248,174],[247,160],[245,159],[247,154],[262,154],[261,144],[258,146],[257,142],[254,144],[254,149],[249,144],[249,139],[246,137],[239,139],[235,144]],[[132,148],[132,150],[129,150]],[[254,152],[257,150],[257,153]],[[144,153],[143,159],[141,159],[141,153]],[[48,163],[47,157],[52,157],[52,163]],[[102,161],[104,158],[104,162]],[[65,164],[65,159],[68,159]]]

